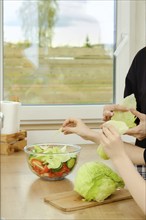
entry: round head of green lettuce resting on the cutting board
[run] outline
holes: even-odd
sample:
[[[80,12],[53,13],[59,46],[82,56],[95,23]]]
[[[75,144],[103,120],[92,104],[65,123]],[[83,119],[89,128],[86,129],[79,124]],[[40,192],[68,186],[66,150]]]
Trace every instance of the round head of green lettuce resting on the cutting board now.
[[[83,164],[75,177],[74,190],[86,201],[104,201],[117,188],[123,188],[122,178],[102,162]]]

